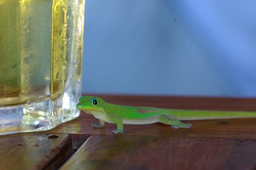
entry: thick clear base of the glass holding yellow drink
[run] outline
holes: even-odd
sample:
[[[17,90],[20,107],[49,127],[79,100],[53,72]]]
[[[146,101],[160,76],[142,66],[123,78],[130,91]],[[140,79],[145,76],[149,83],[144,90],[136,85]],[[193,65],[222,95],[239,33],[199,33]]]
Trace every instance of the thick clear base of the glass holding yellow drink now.
[[[76,99],[73,97],[64,93],[55,100],[48,97],[0,107],[0,135],[50,130],[77,118],[80,111],[76,109]]]

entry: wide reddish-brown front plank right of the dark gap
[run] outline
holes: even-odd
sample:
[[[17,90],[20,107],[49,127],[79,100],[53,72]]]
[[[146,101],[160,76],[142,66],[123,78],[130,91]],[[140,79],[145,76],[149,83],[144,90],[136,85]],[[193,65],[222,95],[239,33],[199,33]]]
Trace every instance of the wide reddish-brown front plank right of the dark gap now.
[[[63,170],[255,169],[256,141],[161,136],[91,136]]]

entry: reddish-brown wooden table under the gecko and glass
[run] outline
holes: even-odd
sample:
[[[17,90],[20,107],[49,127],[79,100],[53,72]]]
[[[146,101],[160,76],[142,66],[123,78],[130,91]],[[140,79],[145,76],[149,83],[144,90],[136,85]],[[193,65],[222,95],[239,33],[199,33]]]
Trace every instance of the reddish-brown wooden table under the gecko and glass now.
[[[256,99],[99,96],[121,105],[256,111]],[[53,130],[0,136],[1,170],[256,169],[256,119],[184,121],[189,129],[124,125],[124,134],[113,134],[114,124],[99,129],[90,122],[97,120],[82,112]]]

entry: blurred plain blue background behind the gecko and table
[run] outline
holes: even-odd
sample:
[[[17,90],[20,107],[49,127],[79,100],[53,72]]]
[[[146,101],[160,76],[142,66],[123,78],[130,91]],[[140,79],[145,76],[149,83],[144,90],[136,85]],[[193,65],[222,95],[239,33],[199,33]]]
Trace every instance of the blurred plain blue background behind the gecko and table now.
[[[256,1],[86,0],[87,94],[256,97]]]

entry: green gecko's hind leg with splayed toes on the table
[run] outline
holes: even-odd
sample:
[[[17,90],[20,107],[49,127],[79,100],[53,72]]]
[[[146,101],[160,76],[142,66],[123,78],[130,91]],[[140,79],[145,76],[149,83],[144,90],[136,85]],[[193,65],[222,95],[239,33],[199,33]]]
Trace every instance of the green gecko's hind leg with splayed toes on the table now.
[[[190,123],[182,123],[180,122],[179,120],[177,119],[171,119],[169,118],[168,116],[166,115],[161,115],[159,117],[159,122],[160,123],[163,123],[163,124],[166,124],[166,125],[172,125],[172,128],[189,128],[191,127],[191,124]]]

